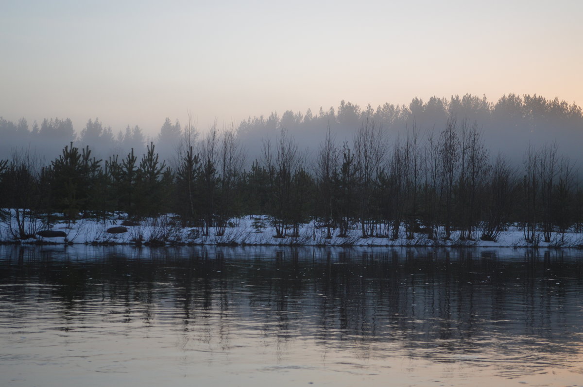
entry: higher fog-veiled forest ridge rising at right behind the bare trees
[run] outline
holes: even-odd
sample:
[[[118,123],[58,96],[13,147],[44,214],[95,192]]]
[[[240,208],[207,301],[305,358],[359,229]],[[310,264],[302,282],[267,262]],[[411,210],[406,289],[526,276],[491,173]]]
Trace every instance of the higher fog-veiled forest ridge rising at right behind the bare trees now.
[[[431,97],[427,101],[414,98],[409,105],[384,104],[362,108],[341,101],[336,108],[319,112],[285,111],[282,114],[256,116],[241,122],[239,130],[250,154],[259,154],[262,138],[273,135],[276,128],[285,127],[296,137],[300,149],[315,152],[328,127],[336,139],[352,140],[360,123],[367,118],[395,139],[416,126],[418,130],[439,129],[448,117],[476,123],[483,133],[484,143],[506,154],[512,162],[521,162],[526,145],[541,146],[556,141],[562,152],[580,158],[583,143],[583,113],[581,106],[559,98],[552,100],[539,95],[508,94],[496,102],[485,96],[455,95],[449,99]]]

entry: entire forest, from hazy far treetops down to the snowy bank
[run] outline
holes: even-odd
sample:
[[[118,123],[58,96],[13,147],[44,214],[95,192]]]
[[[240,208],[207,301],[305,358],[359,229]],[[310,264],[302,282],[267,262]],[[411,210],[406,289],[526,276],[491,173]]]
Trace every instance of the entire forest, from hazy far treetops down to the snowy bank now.
[[[519,162],[486,144],[496,125],[500,144],[525,137],[511,155]],[[204,235],[222,235],[230,219],[249,214],[269,215],[274,237],[297,236],[311,220],[328,236],[358,228],[363,238],[389,239],[449,239],[456,230],[461,239],[496,240],[516,224],[533,244],[583,228],[575,159],[557,142],[531,141],[568,133],[578,150],[581,108],[536,95],[377,109],[341,102],[317,115],[273,113],[202,134],[166,119],[147,144],[139,127],[114,136],[97,119],[78,135],[69,119],[32,130],[24,119],[1,120],[0,130],[2,146],[12,145],[0,161],[0,215],[15,239],[28,236],[27,218],[50,222],[55,212],[71,221],[171,213]],[[310,132],[320,138],[305,150],[296,139],[313,139]],[[41,144],[60,144],[60,154],[47,161]]]

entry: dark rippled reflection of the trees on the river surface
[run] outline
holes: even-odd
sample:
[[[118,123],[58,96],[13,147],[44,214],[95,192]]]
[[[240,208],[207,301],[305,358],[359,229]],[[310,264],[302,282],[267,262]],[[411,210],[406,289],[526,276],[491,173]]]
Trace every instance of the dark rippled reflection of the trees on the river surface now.
[[[445,358],[578,353],[582,254],[559,250],[0,247],[0,318],[180,326],[185,350],[260,336]],[[44,287],[39,287],[43,285]],[[39,290],[40,289],[40,290]],[[55,303],[55,300],[58,300]],[[16,318],[14,317],[14,318]],[[122,328],[120,328],[122,329]],[[550,356],[550,355],[549,355]]]

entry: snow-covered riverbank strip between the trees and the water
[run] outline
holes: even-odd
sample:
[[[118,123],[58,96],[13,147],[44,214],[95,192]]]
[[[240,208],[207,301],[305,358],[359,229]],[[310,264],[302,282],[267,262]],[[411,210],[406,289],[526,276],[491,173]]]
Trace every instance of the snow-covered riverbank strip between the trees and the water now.
[[[360,230],[354,228],[346,237],[333,233],[326,239],[326,229],[317,222],[305,223],[300,228],[299,236],[274,237],[275,230],[269,225],[267,216],[245,216],[231,219],[223,235],[216,235],[214,228],[210,235],[203,235],[201,228],[182,227],[171,215],[149,218],[141,222],[124,222],[124,215],[114,218],[80,219],[76,222],[57,221],[49,226],[39,219],[24,223],[28,239],[16,239],[17,224],[12,219],[0,221],[0,243],[28,244],[205,244],[205,245],[271,245],[271,246],[468,246],[468,247],[583,247],[583,233],[566,233],[561,238],[554,234],[550,243],[542,241],[535,244],[526,243],[522,230],[511,227],[501,233],[496,242],[484,240],[460,240],[459,233],[452,233],[450,240],[442,238],[429,239],[424,233],[417,233],[414,239],[406,239],[402,230],[398,239],[385,237],[361,238]],[[53,233],[47,237],[43,231]],[[44,235],[44,236],[43,236]],[[542,236],[542,233],[541,233]]]

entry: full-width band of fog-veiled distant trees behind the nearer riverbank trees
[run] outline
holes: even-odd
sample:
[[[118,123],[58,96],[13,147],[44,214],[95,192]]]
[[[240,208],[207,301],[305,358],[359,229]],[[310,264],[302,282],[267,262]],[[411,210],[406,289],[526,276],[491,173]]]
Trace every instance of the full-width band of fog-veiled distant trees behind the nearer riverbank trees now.
[[[583,113],[581,106],[558,97],[545,98],[540,95],[504,95],[497,101],[489,101],[485,95],[465,94],[449,98],[431,97],[429,100],[413,98],[409,104],[389,102],[371,106],[359,106],[340,101],[337,106],[307,109],[305,112],[271,112],[250,116],[234,123],[245,148],[247,164],[260,159],[262,147],[269,139],[275,141],[280,129],[286,129],[298,144],[298,149],[309,158],[318,150],[328,127],[338,145],[352,143],[354,133],[366,120],[380,126],[389,144],[411,133],[413,128],[421,136],[431,132],[438,134],[444,129],[448,118],[458,123],[477,125],[483,133],[490,154],[503,152],[516,165],[529,145],[540,147],[556,142],[561,154],[574,162],[581,159],[583,144]],[[185,129],[191,127],[199,139],[209,128],[196,128],[192,122],[178,119],[161,119],[160,130],[147,136],[137,126],[112,128],[99,118],[88,119],[85,125],[73,127],[68,118],[44,119],[40,125],[29,123],[26,118],[12,122],[0,118],[0,159],[9,159],[13,152],[26,151],[36,155],[41,164],[50,164],[71,141],[76,147],[89,146],[92,157],[107,159],[119,154],[124,157],[132,148],[141,155],[152,141],[162,159],[172,162],[177,158],[177,145]],[[231,125],[216,123],[217,130]]]

